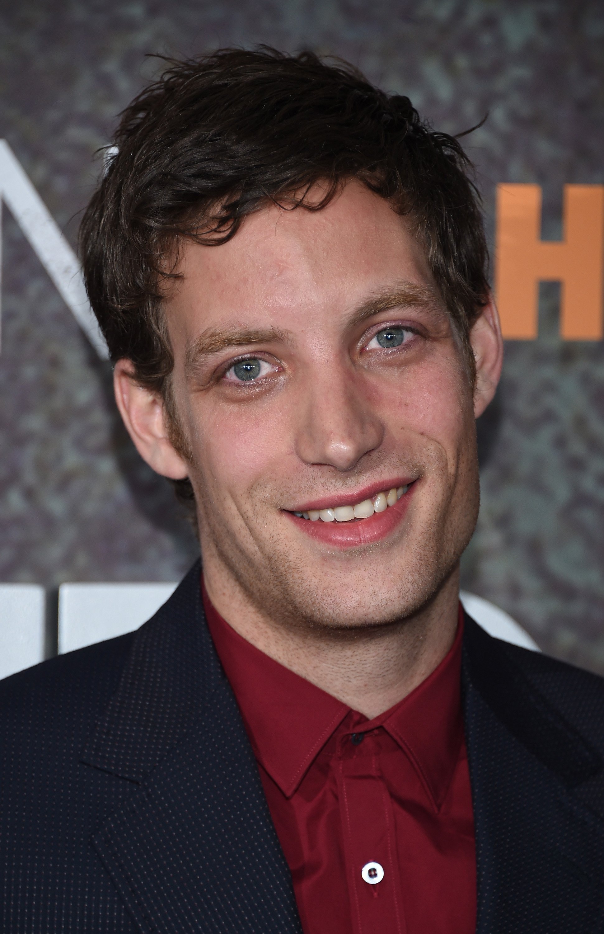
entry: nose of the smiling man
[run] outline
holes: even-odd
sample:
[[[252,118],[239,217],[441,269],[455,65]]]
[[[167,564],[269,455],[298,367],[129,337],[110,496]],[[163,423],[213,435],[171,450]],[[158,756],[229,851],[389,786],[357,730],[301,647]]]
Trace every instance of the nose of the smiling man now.
[[[297,403],[298,456],[305,463],[335,467],[343,473],[353,470],[382,443],[382,421],[372,411],[362,376],[344,366],[313,376]]]

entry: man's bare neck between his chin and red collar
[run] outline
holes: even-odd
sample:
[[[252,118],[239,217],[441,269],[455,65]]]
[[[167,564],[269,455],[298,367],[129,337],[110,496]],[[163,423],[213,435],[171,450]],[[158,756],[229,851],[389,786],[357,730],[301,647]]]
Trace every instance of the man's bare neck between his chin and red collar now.
[[[205,576],[220,616],[247,642],[370,719],[401,701],[440,664],[454,642],[458,566],[412,616],[369,630],[292,630],[262,616],[238,587]]]

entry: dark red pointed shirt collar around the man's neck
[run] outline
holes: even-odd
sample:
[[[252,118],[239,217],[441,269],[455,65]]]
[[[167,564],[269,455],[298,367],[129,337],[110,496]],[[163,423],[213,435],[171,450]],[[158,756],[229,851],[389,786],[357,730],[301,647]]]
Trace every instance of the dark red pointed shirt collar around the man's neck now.
[[[246,724],[254,755],[288,798],[350,708],[274,661],[220,616],[203,587],[207,624]],[[414,765],[438,810],[463,741],[459,613],[455,642],[440,665],[384,714],[355,716],[355,729],[383,727]]]

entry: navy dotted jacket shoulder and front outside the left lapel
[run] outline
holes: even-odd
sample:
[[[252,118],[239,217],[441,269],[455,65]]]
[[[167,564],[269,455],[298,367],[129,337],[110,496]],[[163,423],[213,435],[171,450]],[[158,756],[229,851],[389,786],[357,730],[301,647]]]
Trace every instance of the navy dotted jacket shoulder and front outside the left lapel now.
[[[80,765],[130,635],[0,683],[0,931],[135,928],[91,846],[135,785]]]

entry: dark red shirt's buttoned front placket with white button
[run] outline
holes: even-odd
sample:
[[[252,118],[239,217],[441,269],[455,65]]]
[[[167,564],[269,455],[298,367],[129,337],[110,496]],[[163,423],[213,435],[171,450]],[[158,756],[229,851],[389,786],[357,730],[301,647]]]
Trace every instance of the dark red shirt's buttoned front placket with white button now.
[[[379,768],[379,738],[371,733],[340,737],[338,752],[338,800],[354,934],[407,934],[394,811]]]

